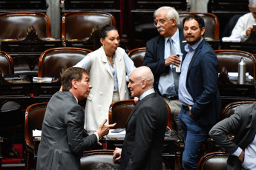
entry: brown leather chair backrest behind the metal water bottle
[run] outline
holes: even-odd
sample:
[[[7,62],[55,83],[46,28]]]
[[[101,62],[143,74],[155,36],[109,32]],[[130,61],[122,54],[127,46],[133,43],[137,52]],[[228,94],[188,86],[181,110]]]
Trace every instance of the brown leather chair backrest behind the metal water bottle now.
[[[252,75],[255,79],[255,56],[252,53],[240,51],[240,50],[215,50],[217,59],[219,61],[219,72],[221,72],[222,67],[226,67],[228,72],[238,72],[238,63],[243,57],[246,62],[246,72]]]

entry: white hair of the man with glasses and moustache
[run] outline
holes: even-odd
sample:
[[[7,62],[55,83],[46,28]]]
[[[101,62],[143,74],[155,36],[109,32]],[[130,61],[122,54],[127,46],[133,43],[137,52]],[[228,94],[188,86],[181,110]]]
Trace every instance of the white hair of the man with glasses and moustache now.
[[[252,1],[252,0],[250,0]],[[154,18],[156,18],[157,14],[160,12],[160,10],[168,10],[168,13],[166,15],[166,18],[168,18],[168,21],[171,22],[172,18],[175,18],[176,20],[176,26],[179,26],[180,24],[180,16],[177,10],[175,10],[174,7],[160,7],[157,10],[154,11]]]

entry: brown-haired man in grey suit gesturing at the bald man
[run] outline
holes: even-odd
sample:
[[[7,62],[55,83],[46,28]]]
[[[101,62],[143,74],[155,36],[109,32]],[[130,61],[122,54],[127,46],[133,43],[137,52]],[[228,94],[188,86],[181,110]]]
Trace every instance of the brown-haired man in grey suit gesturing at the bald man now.
[[[93,149],[115,125],[105,125],[105,120],[93,135],[85,131],[85,113],[78,101],[87,98],[91,88],[85,69],[63,72],[62,92],[50,98],[45,111],[36,169],[79,169],[82,152]]]

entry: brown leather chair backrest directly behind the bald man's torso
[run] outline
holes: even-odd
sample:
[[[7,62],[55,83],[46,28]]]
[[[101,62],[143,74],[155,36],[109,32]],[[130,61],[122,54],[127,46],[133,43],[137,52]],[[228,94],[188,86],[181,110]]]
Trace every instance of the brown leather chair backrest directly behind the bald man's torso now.
[[[125,100],[125,101],[116,101],[111,103],[108,111],[108,123],[116,123],[115,129],[125,128],[126,121],[128,120],[129,115],[131,114],[132,109],[134,109],[135,103],[134,100]],[[172,129],[171,126],[171,109],[166,103],[168,109],[168,124],[167,126]]]

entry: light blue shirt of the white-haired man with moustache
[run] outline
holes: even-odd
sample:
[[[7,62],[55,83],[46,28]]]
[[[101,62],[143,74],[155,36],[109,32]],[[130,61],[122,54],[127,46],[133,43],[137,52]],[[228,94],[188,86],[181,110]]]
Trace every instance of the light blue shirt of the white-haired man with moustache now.
[[[165,59],[171,55],[171,51],[170,51],[171,42],[174,46],[175,53],[176,54],[181,53],[179,37],[180,37],[179,29],[177,29],[177,31],[174,33],[174,35],[172,35],[171,38],[170,37],[165,38]],[[168,39],[170,41],[168,41]],[[177,95],[177,92],[175,91],[175,86],[174,86],[174,74],[172,72],[174,65],[171,64],[169,67],[170,67],[169,72],[165,75],[161,75],[158,83],[158,89],[161,95],[164,95],[167,98],[171,98],[171,95]]]

